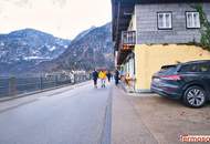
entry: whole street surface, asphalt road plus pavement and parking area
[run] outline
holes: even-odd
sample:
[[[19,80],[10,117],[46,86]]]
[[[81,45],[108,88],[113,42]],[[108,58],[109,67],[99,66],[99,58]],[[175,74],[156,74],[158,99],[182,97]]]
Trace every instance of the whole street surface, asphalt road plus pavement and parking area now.
[[[0,102],[0,144],[181,144],[209,134],[209,109],[85,82]]]

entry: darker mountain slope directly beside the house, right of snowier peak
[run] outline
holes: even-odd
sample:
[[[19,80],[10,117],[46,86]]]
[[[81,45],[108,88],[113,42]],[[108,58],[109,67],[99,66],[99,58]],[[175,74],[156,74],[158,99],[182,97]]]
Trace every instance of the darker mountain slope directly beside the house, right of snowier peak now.
[[[114,59],[111,33],[111,23],[98,28],[91,28],[91,30],[85,31],[83,37],[73,40],[67,50],[57,59],[53,60],[51,63],[42,63],[40,68],[43,71],[88,71],[102,66],[113,68]]]

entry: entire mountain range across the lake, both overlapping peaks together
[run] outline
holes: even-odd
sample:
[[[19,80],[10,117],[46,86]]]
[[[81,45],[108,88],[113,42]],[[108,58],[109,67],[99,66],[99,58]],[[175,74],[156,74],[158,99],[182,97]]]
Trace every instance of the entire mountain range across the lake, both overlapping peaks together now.
[[[0,75],[114,68],[111,23],[92,27],[74,40],[32,29],[0,35]]]

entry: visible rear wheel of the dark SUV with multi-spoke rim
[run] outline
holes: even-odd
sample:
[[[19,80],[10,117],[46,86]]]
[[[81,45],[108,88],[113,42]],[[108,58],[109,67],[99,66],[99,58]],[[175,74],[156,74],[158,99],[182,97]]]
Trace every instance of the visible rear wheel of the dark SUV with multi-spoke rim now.
[[[191,107],[201,107],[207,100],[206,91],[200,86],[190,86],[183,94],[183,102]]]

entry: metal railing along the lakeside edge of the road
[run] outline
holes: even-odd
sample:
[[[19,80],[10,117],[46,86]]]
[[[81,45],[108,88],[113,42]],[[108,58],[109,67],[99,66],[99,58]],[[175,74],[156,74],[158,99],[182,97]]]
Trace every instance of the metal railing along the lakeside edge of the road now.
[[[0,78],[0,97],[12,96],[51,89],[65,84],[75,84],[90,80],[88,74],[73,76],[39,76],[39,78]]]

